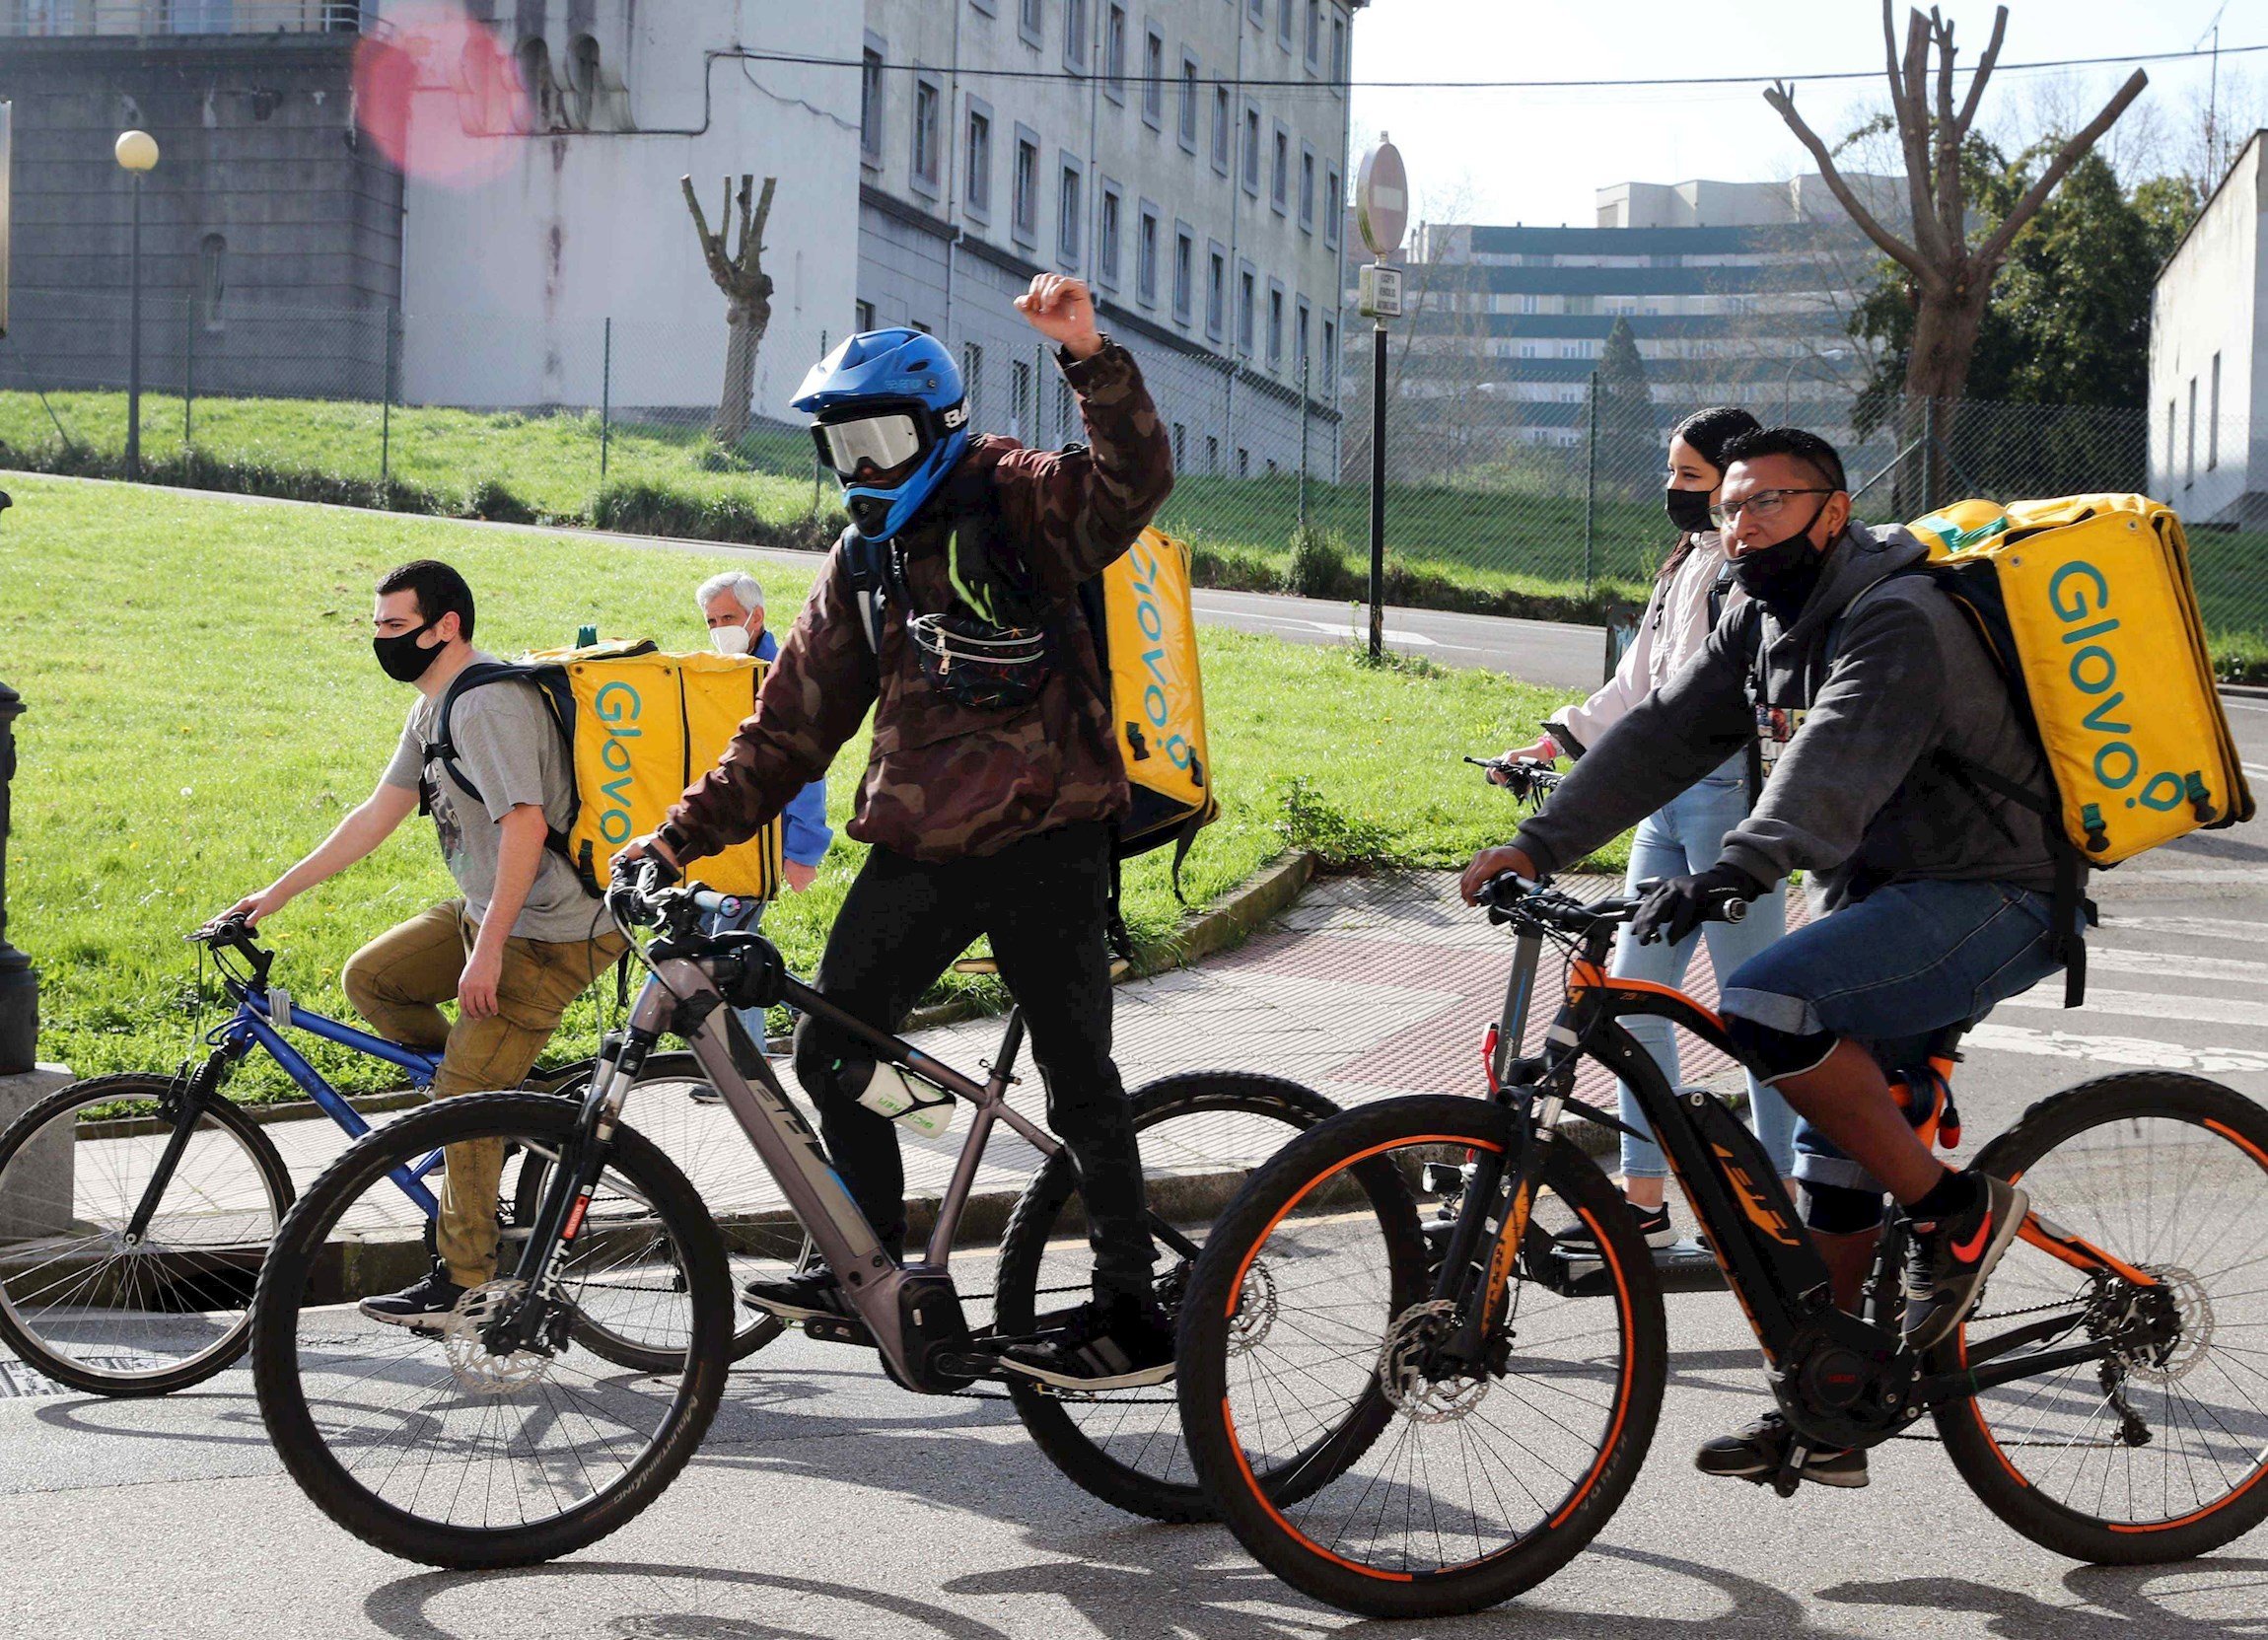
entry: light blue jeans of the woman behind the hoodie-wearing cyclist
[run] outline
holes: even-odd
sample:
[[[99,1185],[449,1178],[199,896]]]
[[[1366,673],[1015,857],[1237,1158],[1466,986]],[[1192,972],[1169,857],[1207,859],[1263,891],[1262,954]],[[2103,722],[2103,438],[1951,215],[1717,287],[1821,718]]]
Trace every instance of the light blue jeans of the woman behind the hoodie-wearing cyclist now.
[[[1647,878],[1683,878],[1694,871],[1708,871],[1724,851],[1724,835],[1746,817],[1749,753],[1740,753],[1637,823],[1637,837],[1631,842],[1631,871],[1624,887],[1635,889]],[[1615,939],[1610,973],[1617,980],[1678,984],[1685,978],[1685,964],[1692,962],[1694,948],[1706,935],[1708,957],[1717,966],[1717,982],[1721,984],[1724,975],[1755,957],[1785,932],[1787,885],[1783,882],[1751,905],[1749,916],[1742,921],[1703,923],[1674,946],[1660,941],[1640,946],[1631,939],[1628,925],[1624,925]],[[1669,1087],[1676,1087],[1678,1043],[1669,1021],[1633,1016],[1624,1018],[1622,1025],[1653,1055],[1653,1064],[1669,1077]],[[1622,1121],[1644,1134],[1644,1139],[1633,1134],[1622,1136],[1622,1177],[1667,1177],[1669,1166],[1662,1159],[1662,1148],[1653,1143],[1653,1130],[1647,1125],[1647,1114],[1640,1109],[1637,1098],[1628,1084],[1617,1084],[1615,1091],[1622,1100]],[[1767,1087],[1758,1087],[1755,1077],[1749,1077],[1749,1125],[1755,1130],[1758,1141],[1762,1141],[1765,1155],[1771,1157],[1771,1166],[1780,1170],[1780,1177],[1787,1177],[1787,1170],[1794,1166],[1796,1116],[1787,1109],[1787,1100]]]

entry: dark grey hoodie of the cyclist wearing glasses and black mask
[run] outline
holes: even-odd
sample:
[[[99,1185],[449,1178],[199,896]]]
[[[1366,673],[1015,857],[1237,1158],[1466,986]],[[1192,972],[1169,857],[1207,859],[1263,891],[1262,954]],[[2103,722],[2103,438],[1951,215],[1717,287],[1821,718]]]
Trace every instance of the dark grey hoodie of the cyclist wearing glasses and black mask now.
[[[1765,789],[1721,855],[1755,880],[1810,871],[1826,910],[1912,878],[2050,891],[2041,819],[1966,773],[2048,792],[1969,615],[1928,576],[1869,592],[1923,558],[1903,529],[1851,526],[1794,626],[1760,603],[1726,610],[1701,653],[1601,735],[1513,842],[1558,871],[1755,735]]]

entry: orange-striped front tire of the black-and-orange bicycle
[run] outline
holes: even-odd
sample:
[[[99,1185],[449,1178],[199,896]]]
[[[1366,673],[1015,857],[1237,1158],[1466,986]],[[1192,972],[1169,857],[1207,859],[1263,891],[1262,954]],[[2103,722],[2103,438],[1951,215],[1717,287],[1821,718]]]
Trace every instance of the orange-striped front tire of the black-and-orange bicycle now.
[[[1302,1499],[1272,1495],[1254,1477],[1229,1406],[1234,1393],[1229,1359],[1241,1322],[1243,1293],[1247,1291],[1247,1273],[1259,1263],[1277,1227],[1313,1191],[1329,1189],[1327,1182],[1334,1175],[1365,1157],[1402,1170],[1408,1157],[1393,1157],[1395,1150],[1429,1148],[1456,1155],[1458,1150],[1501,1150],[1506,1143],[1510,1143],[1510,1114],[1472,1098],[1415,1096],[1352,1109],[1302,1134],[1275,1161],[1254,1173],[1252,1182],[1213,1225],[1204,1257],[1198,1259],[1188,1300],[1182,1309],[1179,1375],[1182,1427],[1191,1459],[1218,1504],[1220,1518],[1252,1558],[1300,1592],[1343,1611],[1368,1617],[1447,1617],[1495,1606],[1533,1588],[1574,1558],[1613,1518],[1615,1508],[1628,1495],[1644,1463],[1647,1447],[1653,1440],[1653,1425],[1660,1415],[1667,1379],[1660,1277],[1637,1236],[1631,1214],[1599,1166],[1565,1139],[1549,1139],[1538,1175],[1542,1186],[1540,1198],[1545,1193],[1556,1195],[1565,1209],[1572,1209],[1594,1234],[1606,1239],[1610,1252],[1610,1259],[1606,1259],[1610,1297],[1567,1302],[1613,1302],[1613,1327],[1622,1341],[1622,1359],[1613,1368],[1610,1400],[1603,1404],[1603,1440],[1594,1456],[1583,1459],[1585,1468],[1574,1477],[1567,1495],[1558,1504],[1549,1497],[1538,1504],[1538,1524],[1531,1529],[1510,1529],[1506,1547],[1417,1570],[1408,1565],[1365,1565],[1352,1558],[1352,1554],[1311,1540],[1284,1513]],[[1327,1202],[1329,1198],[1318,1195],[1313,1200]],[[1415,1252],[1411,1252],[1411,1243],[1417,1243]],[[1397,1232],[1390,1257],[1397,1263],[1417,1259],[1422,1270],[1424,1252],[1415,1216]],[[1535,1284],[1520,1275],[1520,1266],[1515,1266],[1510,1275],[1513,1297],[1522,1297],[1522,1291],[1531,1286]],[[1406,1288],[1397,1270],[1397,1304],[1402,1291]],[[1388,1336],[1408,1322],[1411,1313],[1411,1309],[1397,1311]],[[1524,1338],[1526,1332],[1526,1325],[1522,1325],[1515,1338]],[[1520,1347],[1526,1350],[1529,1345],[1522,1343]],[[1372,1359],[1359,1356],[1352,1350],[1347,1354],[1361,1361]],[[1386,1352],[1381,1350],[1377,1359],[1379,1366],[1363,1368],[1370,1386],[1365,1395],[1377,1393],[1383,1379]],[[1495,1379],[1510,1381],[1510,1366],[1495,1372]],[[1417,1427],[1415,1411],[1406,1413],[1406,1418],[1411,1422],[1397,1415],[1402,1434],[1395,1436],[1395,1445],[1386,1447],[1388,1468],[1408,1440],[1408,1429]],[[1427,1427],[1445,1422],[1452,1420],[1429,1420]],[[1379,1445],[1386,1445],[1383,1436]],[[1533,1456],[1524,1445],[1520,1449]],[[1359,1481],[1352,1474],[1334,1477],[1331,1488],[1318,1490],[1306,1502],[1318,1504],[1318,1499],[1334,1497],[1340,1486],[1354,1488]],[[1520,1483],[1520,1493],[1533,1502],[1533,1488],[1526,1481]],[[1338,1504],[1334,1502],[1331,1506],[1336,1508]],[[1379,1531],[1386,1531],[1383,1513]],[[1438,1527],[1433,1531],[1436,1554],[1447,1554],[1440,1545]],[[1343,1542],[1343,1547],[1359,1549],[1352,1540]],[[1408,1556],[1404,1554],[1404,1558]]]

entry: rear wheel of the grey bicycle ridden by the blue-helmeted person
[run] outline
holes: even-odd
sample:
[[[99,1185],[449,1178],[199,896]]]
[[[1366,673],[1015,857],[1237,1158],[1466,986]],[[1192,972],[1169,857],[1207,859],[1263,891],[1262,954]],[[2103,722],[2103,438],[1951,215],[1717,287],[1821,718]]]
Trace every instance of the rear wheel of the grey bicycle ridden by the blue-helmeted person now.
[[[1157,1286],[1173,1313],[1213,1216],[1250,1168],[1338,1107],[1297,1082],[1238,1071],[1173,1075],[1127,1098],[1159,1239]],[[1041,1313],[1086,1297],[1095,1261],[1077,1186],[1070,1157],[1057,1155],[1018,1198],[1000,1239],[998,1332],[1030,1332]],[[1102,1502],[1152,1520],[1213,1520],[1170,1384],[1064,1397],[1012,1379],[1009,1397],[1039,1449]]]

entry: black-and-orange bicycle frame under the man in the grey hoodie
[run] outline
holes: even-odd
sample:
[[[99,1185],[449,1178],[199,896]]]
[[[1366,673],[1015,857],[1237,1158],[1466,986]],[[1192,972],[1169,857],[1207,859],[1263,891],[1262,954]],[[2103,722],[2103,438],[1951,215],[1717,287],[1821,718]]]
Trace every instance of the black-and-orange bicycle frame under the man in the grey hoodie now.
[[[1869,1307],[1869,1316],[1860,1318],[1837,1309],[1826,1263],[1812,1245],[1810,1232],[1792,1211],[1778,1168],[1771,1166],[1755,1134],[1712,1093],[1690,1089],[1681,1096],[1669,1087],[1653,1055],[1619,1023],[1628,1016],[1667,1018],[1674,1028],[1742,1062],[1740,1050],[1726,1037],[1724,1021],[1712,1009],[1667,984],[1608,978],[1603,966],[1606,935],[1594,930],[1585,939],[1583,955],[1569,962],[1567,998],[1545,1032],[1545,1053],[1526,1062],[1513,1059],[1526,1028],[1540,950],[1542,935],[1522,930],[1492,1050],[1490,1068],[1499,1082],[1497,1098],[1515,1109],[1526,1107],[1529,1134],[1549,1134],[1565,1109],[1619,1130],[1622,1123],[1603,1111],[1569,1102],[1576,1062],[1590,1055],[1631,1087],[1669,1170],[1685,1191],[1685,1200],[1708,1229],[1708,1243],[1724,1268],[1726,1286],[1740,1300],[1749,1327],[1755,1332],[1774,1397],[1799,1431],[1837,1447],[1873,1445],[1939,1402],[2114,1354],[2112,1338],[2023,1352],[2025,1345],[2046,1343],[2068,1332],[2071,1318],[2064,1316],[1966,1341],[1957,1370],[1921,1372],[1919,1356],[1905,1347],[1901,1336],[1896,1304],[1887,1295],[1885,1277],[1896,1254],[1896,1227],[1882,1239],[1873,1282],[1876,1302]],[[1529,1080],[1526,1073],[1533,1077]],[[1499,1161],[1495,1170],[1501,1166]],[[1524,1234],[1522,1191],[1531,1170],[1531,1157],[1522,1155],[1510,1189],[1504,1189],[1504,1198],[1515,1209],[1499,1216],[1506,1239]],[[1474,1218],[1474,1214],[1461,1214],[1463,1218]],[[2146,1270],[2136,1270],[2037,1214],[2025,1218],[2021,1234],[2087,1275],[2157,1286],[2157,1279]],[[1476,1248],[1479,1234],[1470,1234],[1467,1243]],[[1479,1263],[1470,1250],[1463,1261],[1456,1254],[1458,1245],[1452,1243],[1452,1261],[1445,1263],[1440,1277],[1442,1286],[1461,1279],[1465,1268],[1508,1268],[1508,1261],[1495,1254]],[[1483,1309],[1476,1309],[1474,1320],[1467,1322],[1474,1334],[1481,1313]]]

